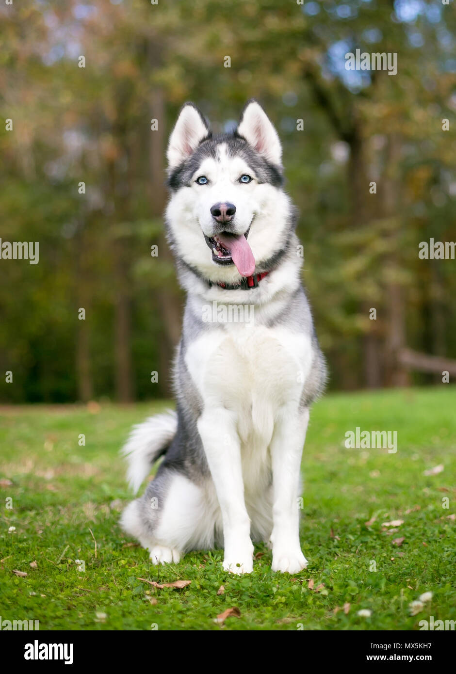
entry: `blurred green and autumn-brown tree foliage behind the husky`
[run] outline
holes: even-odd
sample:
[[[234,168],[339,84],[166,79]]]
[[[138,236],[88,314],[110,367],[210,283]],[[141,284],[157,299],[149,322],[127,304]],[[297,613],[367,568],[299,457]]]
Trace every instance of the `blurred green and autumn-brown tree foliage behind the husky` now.
[[[13,3],[1,17],[0,119],[14,130],[0,124],[0,235],[39,241],[40,263],[0,260],[0,371],[16,373],[13,387],[1,377],[0,400],[80,398],[80,306],[92,394],[115,396],[119,292],[136,396],[164,394],[166,377],[151,389],[144,373],[171,358],[163,288],[174,313],[182,303],[161,212],[167,134],[187,99],[215,131],[252,96],[277,125],[331,386],[366,383],[363,339],[374,335],[384,363],[394,321],[407,346],[455,357],[455,263],[418,259],[420,241],[455,238],[451,6],[42,1]],[[347,79],[344,53],[356,48],[397,53],[397,75]],[[399,318],[390,315],[392,284]]]

